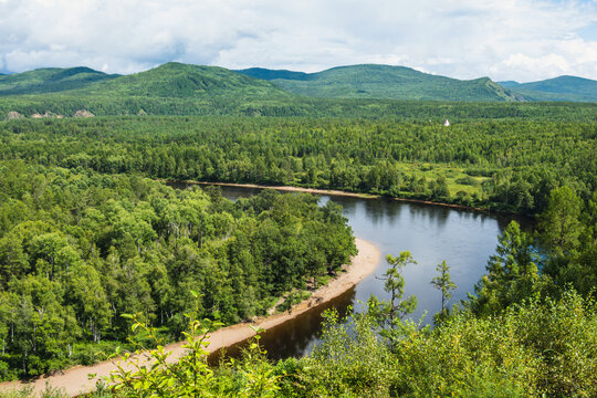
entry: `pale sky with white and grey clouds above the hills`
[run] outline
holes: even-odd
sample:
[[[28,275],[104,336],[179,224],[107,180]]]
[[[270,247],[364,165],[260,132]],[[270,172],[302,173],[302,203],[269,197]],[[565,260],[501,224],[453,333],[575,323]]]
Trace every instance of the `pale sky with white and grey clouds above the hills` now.
[[[0,0],[0,72],[168,61],[597,80],[597,0]]]

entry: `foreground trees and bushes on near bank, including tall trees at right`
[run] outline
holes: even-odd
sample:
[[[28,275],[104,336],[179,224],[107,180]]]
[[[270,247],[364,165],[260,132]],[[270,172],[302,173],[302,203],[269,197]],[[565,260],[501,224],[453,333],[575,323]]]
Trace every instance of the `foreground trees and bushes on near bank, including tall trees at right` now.
[[[394,304],[371,297],[368,311],[348,320],[328,312],[322,341],[306,357],[270,362],[256,337],[241,358],[209,367],[202,342],[213,323],[191,312],[189,352],[180,362],[168,364],[167,354],[151,350],[160,366],[122,368],[109,380],[116,389],[100,383],[88,397],[593,397],[597,195],[584,203],[561,187],[547,201],[538,235],[512,222],[476,294],[436,316],[433,328],[404,318],[416,301],[402,296],[400,270],[413,262],[402,252],[388,256],[398,272],[385,274],[395,282],[386,283]],[[193,300],[200,312],[202,297],[191,294]],[[395,311],[394,322],[379,316],[385,311]],[[125,320],[136,326],[139,347],[161,344],[159,328],[143,316]],[[25,388],[3,396],[28,394]],[[62,395],[48,390],[46,397]]]

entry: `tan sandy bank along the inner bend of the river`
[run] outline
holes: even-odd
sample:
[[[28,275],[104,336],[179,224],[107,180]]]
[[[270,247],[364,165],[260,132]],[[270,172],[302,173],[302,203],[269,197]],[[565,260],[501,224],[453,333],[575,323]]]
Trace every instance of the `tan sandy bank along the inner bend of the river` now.
[[[379,263],[380,253],[379,250],[370,242],[356,239],[356,247],[358,254],[353,258],[350,265],[345,268],[346,272],[341,273],[337,277],[329,281],[328,284],[313,292],[312,296],[296,304],[292,307],[291,312],[275,314],[265,318],[256,320],[254,323],[242,323],[218,329],[211,334],[208,346],[210,353],[242,342],[253,335],[253,331],[249,325],[259,325],[263,329],[269,329],[273,326],[280,325],[289,320],[296,317],[297,315],[308,311],[311,307],[323,304],[332,298],[337,297],[348,289],[356,285],[365,276],[375,271]],[[170,359],[175,362],[185,354],[185,349],[181,347],[182,343],[174,343],[166,346],[166,352],[171,352]],[[98,377],[108,376],[116,367],[113,362],[103,362],[91,366],[75,366],[65,370],[63,374],[56,374],[49,377],[42,377],[31,383],[35,391],[41,392],[44,390],[45,385],[49,384],[55,388],[62,388],[71,397],[88,392],[95,386],[95,380]],[[88,374],[96,374],[94,380],[88,380]],[[9,381],[0,384],[0,390],[10,390],[22,387],[21,381]]]

